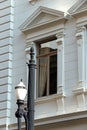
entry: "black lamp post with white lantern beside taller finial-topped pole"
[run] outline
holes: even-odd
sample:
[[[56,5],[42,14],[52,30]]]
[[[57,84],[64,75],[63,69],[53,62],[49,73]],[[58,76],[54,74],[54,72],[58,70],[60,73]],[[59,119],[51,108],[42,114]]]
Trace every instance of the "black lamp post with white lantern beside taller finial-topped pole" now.
[[[25,119],[26,130],[34,130],[34,86],[35,86],[35,60],[34,48],[30,49],[30,60],[28,64],[28,90],[23,84],[22,80],[16,89],[18,109],[15,116],[18,119],[18,130],[21,130],[21,118]],[[24,99],[27,94],[27,108],[24,108]]]

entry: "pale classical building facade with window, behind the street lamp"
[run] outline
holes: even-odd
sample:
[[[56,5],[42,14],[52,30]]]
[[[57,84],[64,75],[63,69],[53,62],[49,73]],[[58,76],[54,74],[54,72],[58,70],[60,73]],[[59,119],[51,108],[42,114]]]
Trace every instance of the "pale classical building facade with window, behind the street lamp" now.
[[[15,86],[27,86],[32,44],[35,130],[86,130],[87,0],[0,0],[0,129],[17,129]]]

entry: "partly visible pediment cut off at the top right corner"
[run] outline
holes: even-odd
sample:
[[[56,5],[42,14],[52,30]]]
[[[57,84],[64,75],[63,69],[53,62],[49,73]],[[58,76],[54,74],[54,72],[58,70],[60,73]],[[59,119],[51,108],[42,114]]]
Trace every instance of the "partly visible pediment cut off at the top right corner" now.
[[[68,12],[72,15],[87,12],[87,0],[78,1],[68,10]]]

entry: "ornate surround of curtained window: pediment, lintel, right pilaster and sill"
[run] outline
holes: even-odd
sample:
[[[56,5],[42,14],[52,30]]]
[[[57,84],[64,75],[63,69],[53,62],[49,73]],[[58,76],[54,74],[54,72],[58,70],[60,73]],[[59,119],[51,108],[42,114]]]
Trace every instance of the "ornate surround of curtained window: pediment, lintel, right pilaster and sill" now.
[[[28,54],[28,50],[31,46],[31,43],[36,44],[38,41],[42,41],[43,39],[49,39],[50,37],[55,37],[57,43],[57,93],[56,98],[55,94],[46,96],[46,100],[56,101],[55,107],[56,114],[64,113],[64,23],[66,18],[64,17],[64,12],[50,9],[47,7],[39,7],[25,22],[20,26],[21,31],[26,35],[26,54]],[[59,60],[60,59],[60,60]],[[61,75],[62,74],[62,75]],[[60,78],[59,78],[60,77]],[[37,89],[35,90],[37,92]],[[50,98],[51,97],[51,98]],[[38,103],[45,103],[45,97],[41,97],[39,100],[36,98],[37,105]],[[40,106],[42,107],[42,106]],[[37,113],[37,112],[36,112]]]

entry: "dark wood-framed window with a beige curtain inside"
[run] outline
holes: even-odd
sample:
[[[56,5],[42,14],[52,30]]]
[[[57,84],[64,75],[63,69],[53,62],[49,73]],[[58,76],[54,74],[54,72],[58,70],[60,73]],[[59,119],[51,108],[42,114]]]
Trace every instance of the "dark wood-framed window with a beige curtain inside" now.
[[[37,43],[38,97],[57,93],[56,39]]]

